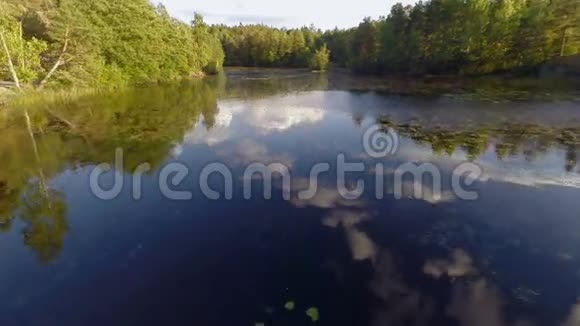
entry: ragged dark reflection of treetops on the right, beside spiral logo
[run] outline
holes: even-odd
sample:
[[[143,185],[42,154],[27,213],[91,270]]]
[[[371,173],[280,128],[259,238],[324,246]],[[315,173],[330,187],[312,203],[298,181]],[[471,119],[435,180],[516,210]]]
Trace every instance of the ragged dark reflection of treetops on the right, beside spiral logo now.
[[[380,118],[384,128],[392,128],[400,135],[419,144],[430,145],[433,153],[451,156],[463,150],[470,160],[481,157],[490,145],[500,160],[523,156],[533,161],[544,155],[551,147],[565,148],[565,169],[574,170],[577,165],[576,150],[580,146],[580,128],[558,129],[539,125],[503,124],[501,126],[466,127],[465,129],[425,128],[419,123],[397,123]]]

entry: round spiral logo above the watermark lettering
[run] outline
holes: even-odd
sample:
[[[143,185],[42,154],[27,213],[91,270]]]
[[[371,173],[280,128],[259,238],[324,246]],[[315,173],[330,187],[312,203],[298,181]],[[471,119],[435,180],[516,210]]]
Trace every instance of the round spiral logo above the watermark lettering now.
[[[390,128],[385,131],[380,125],[373,125],[363,135],[363,147],[372,158],[395,155],[399,150],[399,135]]]

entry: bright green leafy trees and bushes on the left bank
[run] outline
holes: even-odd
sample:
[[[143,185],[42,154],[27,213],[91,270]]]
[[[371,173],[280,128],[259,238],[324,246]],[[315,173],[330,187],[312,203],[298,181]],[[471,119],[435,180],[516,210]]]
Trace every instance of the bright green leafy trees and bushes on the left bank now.
[[[0,0],[0,80],[119,87],[221,69],[219,39],[148,0]]]

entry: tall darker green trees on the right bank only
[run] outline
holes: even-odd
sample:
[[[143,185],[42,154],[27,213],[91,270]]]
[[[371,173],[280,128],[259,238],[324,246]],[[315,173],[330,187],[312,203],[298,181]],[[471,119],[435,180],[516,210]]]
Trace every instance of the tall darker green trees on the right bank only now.
[[[577,0],[431,0],[323,35],[363,73],[488,74],[580,53]]]

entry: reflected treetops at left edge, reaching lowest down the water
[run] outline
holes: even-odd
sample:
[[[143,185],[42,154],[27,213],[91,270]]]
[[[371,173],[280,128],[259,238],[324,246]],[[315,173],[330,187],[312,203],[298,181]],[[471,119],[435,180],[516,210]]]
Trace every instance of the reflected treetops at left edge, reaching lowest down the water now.
[[[55,170],[55,160],[47,153],[47,144],[36,148],[26,132],[6,132],[0,144],[4,167],[0,172],[0,230],[10,231],[14,219],[25,225],[23,237],[42,262],[58,256],[68,230],[66,206],[62,194],[49,189],[45,174]],[[33,150],[34,149],[34,150]],[[38,150],[38,151],[37,151]],[[42,154],[41,154],[42,153]],[[41,160],[47,157],[47,160]]]

